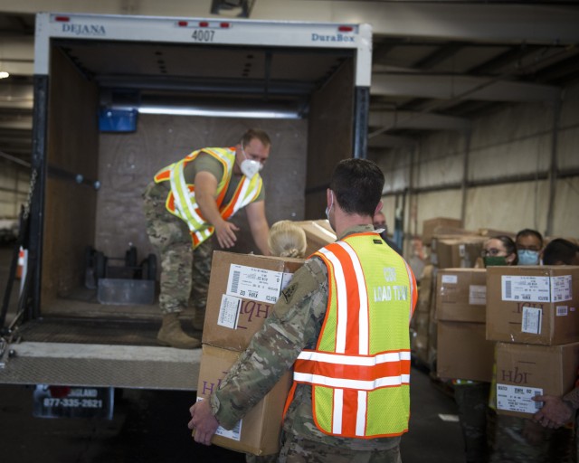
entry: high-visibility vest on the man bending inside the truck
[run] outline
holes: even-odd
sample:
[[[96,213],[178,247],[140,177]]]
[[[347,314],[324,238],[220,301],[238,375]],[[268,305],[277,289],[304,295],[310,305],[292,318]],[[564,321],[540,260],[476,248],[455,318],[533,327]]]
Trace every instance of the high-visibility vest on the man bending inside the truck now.
[[[191,233],[193,247],[196,248],[203,241],[207,240],[213,233],[214,227],[205,221],[197,202],[195,201],[195,184],[187,184],[183,174],[185,165],[195,160],[199,153],[206,153],[214,156],[223,165],[223,176],[217,184],[217,208],[224,220],[232,217],[234,213],[255,201],[261,193],[263,182],[261,176],[256,174],[250,180],[245,175],[242,176],[240,184],[237,186],[233,198],[229,203],[223,203],[223,198],[227,192],[235,164],[235,148],[203,148],[194,151],[180,161],[167,165],[155,175],[155,182],[170,182],[171,191],[166,197],[166,209],[185,221]]]

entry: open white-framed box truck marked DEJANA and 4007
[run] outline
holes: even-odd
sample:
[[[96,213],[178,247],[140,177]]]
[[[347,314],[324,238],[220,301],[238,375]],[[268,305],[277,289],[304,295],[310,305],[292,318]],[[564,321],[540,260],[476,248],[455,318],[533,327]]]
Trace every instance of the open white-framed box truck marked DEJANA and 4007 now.
[[[26,284],[0,383],[195,391],[200,349],[156,344],[142,191],[161,167],[259,127],[269,222],[323,218],[334,165],[365,157],[371,28],[42,13],[34,50]],[[251,251],[234,219],[234,250]],[[153,300],[138,298],[150,282]]]

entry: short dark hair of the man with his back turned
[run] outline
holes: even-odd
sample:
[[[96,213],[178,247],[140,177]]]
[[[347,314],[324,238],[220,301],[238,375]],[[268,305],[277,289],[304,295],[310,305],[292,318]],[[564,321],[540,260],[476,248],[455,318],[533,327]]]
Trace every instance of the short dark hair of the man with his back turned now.
[[[384,187],[384,174],[374,161],[343,159],[337,163],[329,184],[345,213],[374,217]]]

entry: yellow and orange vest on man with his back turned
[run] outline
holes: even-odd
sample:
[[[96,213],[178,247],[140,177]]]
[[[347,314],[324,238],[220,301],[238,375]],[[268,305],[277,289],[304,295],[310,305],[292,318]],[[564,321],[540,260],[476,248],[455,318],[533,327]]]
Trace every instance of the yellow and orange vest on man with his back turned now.
[[[327,312],[316,349],[294,364],[294,389],[312,385],[314,420],[324,433],[399,436],[410,418],[413,271],[375,232],[349,235],[314,255],[327,266]]]

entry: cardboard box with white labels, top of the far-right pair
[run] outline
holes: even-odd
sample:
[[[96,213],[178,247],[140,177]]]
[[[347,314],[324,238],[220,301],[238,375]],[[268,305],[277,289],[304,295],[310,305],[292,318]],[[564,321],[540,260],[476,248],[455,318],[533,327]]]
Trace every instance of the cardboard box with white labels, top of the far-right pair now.
[[[579,267],[487,269],[487,338],[561,345],[579,341]]]

